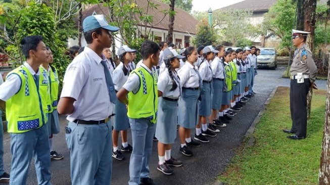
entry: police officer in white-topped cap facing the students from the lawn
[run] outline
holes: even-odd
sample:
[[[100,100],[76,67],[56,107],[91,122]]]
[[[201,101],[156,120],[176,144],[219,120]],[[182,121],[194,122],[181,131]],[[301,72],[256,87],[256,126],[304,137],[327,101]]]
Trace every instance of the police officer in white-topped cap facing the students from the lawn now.
[[[312,52],[306,45],[310,32],[292,30],[292,43],[297,48],[291,65],[290,110],[292,127],[284,129],[288,138],[299,140],[306,137],[307,129],[307,94],[310,87],[317,89],[315,82],[317,68]]]

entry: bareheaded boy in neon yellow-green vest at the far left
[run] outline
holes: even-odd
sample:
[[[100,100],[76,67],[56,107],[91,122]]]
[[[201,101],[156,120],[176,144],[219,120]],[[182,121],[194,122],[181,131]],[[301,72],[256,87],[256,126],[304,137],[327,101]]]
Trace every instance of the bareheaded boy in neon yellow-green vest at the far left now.
[[[48,185],[51,184],[51,158],[45,125],[48,107],[44,100],[49,94],[41,89],[50,87],[48,76],[40,75],[39,66],[48,60],[49,53],[38,35],[24,37],[21,48],[26,62],[11,71],[0,86],[0,106],[6,107],[11,133],[10,184],[26,184],[33,157],[38,184]]]

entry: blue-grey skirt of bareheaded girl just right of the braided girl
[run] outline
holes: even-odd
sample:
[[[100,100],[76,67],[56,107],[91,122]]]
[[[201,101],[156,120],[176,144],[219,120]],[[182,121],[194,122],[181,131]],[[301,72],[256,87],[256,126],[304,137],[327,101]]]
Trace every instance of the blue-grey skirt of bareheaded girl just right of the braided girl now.
[[[197,125],[197,104],[200,90],[182,88],[179,100],[178,123],[183,128],[194,128]]]

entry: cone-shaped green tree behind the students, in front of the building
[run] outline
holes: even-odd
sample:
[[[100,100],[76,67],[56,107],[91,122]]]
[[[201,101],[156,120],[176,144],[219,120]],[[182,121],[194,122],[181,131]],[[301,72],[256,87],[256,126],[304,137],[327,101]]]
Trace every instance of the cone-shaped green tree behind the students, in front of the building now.
[[[212,45],[217,40],[217,35],[215,30],[210,28],[208,22],[203,20],[197,28],[197,34],[193,39],[193,44],[196,46],[199,45]]]

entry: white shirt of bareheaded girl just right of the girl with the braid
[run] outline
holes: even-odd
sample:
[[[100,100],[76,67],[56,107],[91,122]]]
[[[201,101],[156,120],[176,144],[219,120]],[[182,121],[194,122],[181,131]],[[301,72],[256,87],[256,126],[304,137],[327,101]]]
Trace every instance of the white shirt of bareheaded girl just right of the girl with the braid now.
[[[185,65],[179,70],[178,76],[180,77],[182,87],[196,88],[200,86],[199,76],[194,68],[198,71],[197,66],[193,66],[186,61]]]

